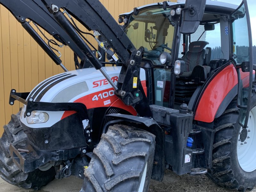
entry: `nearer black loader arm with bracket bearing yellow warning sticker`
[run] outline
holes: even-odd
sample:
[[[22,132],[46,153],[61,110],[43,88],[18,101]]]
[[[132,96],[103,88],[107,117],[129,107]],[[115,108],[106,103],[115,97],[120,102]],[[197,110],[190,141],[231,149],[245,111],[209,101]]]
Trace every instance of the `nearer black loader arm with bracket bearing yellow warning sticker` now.
[[[94,68],[99,69],[106,77],[109,84],[116,90],[116,95],[126,104],[132,105],[140,116],[151,116],[148,100],[140,83],[141,50],[136,50],[122,28],[98,0],[42,0],[53,18],[80,47]],[[61,12],[63,9],[64,12]],[[89,49],[88,45],[81,41],[72,23],[64,13],[72,15],[89,31],[96,30],[108,42],[119,59],[123,62],[122,69],[115,85],[102,64]],[[134,82],[136,82],[134,84]]]

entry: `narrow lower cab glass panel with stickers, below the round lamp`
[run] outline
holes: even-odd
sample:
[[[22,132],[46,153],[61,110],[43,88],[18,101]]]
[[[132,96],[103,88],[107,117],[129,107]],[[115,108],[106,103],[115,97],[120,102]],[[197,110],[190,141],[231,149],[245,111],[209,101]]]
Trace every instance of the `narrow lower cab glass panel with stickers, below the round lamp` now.
[[[169,107],[171,69],[154,68],[155,104]]]

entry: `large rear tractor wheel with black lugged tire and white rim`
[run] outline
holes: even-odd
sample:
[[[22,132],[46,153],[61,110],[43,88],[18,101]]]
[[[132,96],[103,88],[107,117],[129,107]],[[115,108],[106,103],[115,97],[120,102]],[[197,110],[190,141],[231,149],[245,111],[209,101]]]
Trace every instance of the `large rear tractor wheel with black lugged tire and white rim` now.
[[[212,168],[208,176],[220,186],[245,191],[256,185],[256,94],[251,98],[248,128],[238,123],[236,98],[214,120]],[[241,144],[242,143],[242,144]]]

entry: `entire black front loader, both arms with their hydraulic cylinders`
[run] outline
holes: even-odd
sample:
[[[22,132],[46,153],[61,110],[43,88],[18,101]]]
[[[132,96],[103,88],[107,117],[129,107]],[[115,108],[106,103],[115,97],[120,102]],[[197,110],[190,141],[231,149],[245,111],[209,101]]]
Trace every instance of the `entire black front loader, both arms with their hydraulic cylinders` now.
[[[46,44],[42,37],[32,28],[31,23],[39,25],[57,41],[68,45],[85,66],[93,66],[100,70],[109,84],[116,90],[116,95],[126,105],[132,105],[140,116],[151,116],[148,100],[140,82],[142,52],[141,50],[136,50],[122,28],[100,1],[0,0],[0,4],[4,5],[14,15],[52,60],[65,71],[67,69],[62,65],[60,58],[52,51],[49,43]],[[98,31],[116,52],[123,62],[117,85],[111,81],[103,70],[99,59],[84,42],[81,34],[79,35],[77,28],[64,15],[65,13],[69,17],[73,16],[89,31]]]

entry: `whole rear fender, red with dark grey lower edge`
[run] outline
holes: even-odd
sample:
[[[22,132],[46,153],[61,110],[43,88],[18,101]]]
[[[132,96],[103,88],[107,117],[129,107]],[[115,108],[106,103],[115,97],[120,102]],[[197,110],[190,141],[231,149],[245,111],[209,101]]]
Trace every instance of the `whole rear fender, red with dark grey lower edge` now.
[[[243,85],[249,84],[249,73],[241,72]],[[233,64],[226,66],[203,88],[197,99],[195,120],[213,122],[237,95],[237,73]]]

